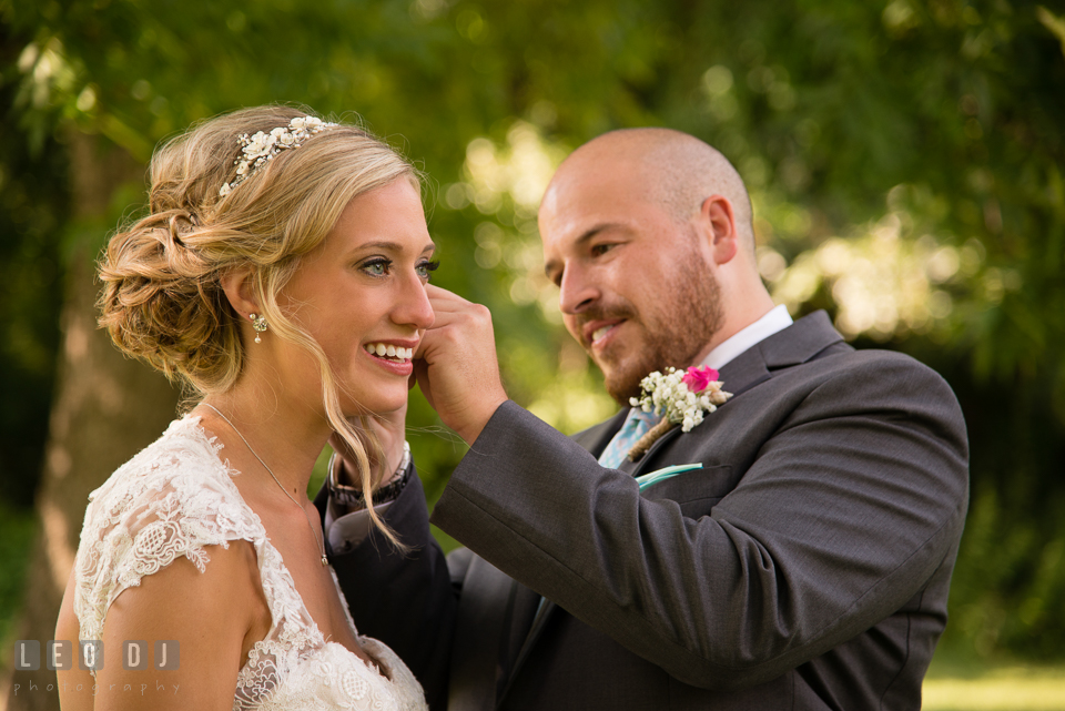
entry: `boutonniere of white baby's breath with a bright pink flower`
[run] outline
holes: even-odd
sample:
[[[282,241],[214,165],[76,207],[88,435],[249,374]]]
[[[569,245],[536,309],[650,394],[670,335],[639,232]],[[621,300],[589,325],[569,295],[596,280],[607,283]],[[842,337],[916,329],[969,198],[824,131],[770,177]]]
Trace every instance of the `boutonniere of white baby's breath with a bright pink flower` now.
[[[677,425],[680,425],[681,431],[691,431],[702,421],[704,413],[712,413],[718,405],[724,405],[732,394],[721,389],[718,377],[717,370],[703,366],[688,368],[687,372],[666,368],[666,375],[656,370],[640,380],[642,393],[640,397],[630,398],[629,404],[645,413],[660,414],[662,420],[632,446],[629,460],[636,461],[642,457],[659,437]]]

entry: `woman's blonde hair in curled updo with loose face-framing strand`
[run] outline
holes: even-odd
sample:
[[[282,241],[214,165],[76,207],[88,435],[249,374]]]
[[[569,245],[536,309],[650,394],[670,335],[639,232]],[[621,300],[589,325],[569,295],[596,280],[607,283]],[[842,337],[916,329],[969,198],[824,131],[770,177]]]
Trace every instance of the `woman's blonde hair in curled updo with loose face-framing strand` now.
[[[247,345],[221,278],[250,268],[271,332],[317,362],[325,414],[355,454],[367,511],[400,546],[369,499],[382,475],[373,475],[366,448],[379,455],[381,446],[365,418],[361,431],[344,417],[325,352],[278,307],[277,295],[354,197],[399,179],[417,185],[419,174],[364,129],[336,125],[281,151],[226,196],[219,194],[235,176],[237,136],[268,133],[304,115],[283,105],[244,109],[194,125],[156,149],[150,214],[118,232],[100,260],[100,325],[123,352],[182,382],[195,399],[224,393],[244,369]]]

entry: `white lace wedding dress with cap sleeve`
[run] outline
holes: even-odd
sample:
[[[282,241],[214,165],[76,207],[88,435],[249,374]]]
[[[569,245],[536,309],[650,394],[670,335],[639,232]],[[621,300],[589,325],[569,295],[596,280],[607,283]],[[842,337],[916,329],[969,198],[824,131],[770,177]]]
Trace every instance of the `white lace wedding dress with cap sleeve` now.
[[[192,416],[175,420],[90,495],[75,562],[81,639],[103,639],[108,608],[144,576],[179,556],[203,571],[210,565],[205,546],[247,540],[258,557],[272,624],[237,676],[234,709],[425,709],[422,687],[386,646],[356,632],[390,680],[318,631],[258,516],[231,480],[236,473],[219,458],[221,445]]]

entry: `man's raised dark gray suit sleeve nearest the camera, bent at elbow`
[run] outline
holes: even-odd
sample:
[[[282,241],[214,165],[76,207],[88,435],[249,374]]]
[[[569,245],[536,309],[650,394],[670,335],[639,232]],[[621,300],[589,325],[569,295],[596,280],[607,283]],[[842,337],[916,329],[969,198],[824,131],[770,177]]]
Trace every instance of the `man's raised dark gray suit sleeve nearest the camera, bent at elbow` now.
[[[942,378],[901,356],[824,372],[779,405],[701,518],[506,403],[433,520],[684,683],[777,678],[921,590],[967,502],[964,424]]]

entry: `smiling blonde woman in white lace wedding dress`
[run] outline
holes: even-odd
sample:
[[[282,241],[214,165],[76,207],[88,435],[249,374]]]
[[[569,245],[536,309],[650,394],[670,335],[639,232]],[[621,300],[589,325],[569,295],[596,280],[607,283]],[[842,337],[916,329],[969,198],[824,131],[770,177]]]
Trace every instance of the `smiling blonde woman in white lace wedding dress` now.
[[[197,404],[90,497],[55,638],[102,648],[59,672],[62,707],[424,709],[355,630],[306,496],[331,437],[363,491],[406,473],[434,321],[417,172],[362,129],[264,106],[166,143],[151,179],[151,214],[101,261],[101,324]]]

